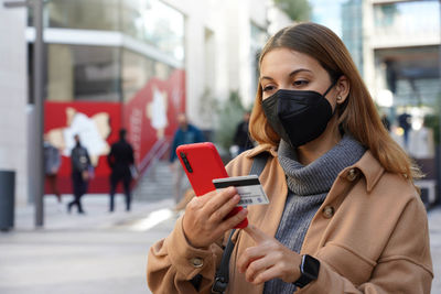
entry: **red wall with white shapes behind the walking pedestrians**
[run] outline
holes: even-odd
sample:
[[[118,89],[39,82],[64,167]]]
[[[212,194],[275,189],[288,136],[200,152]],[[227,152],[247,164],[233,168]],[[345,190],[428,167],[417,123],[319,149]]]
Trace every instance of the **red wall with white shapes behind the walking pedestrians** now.
[[[108,193],[110,170],[106,161],[108,149],[104,144],[110,146],[117,141],[122,126],[128,130],[128,140],[133,145],[136,163],[139,165],[154,144],[171,140],[178,128],[176,115],[184,111],[185,72],[180,69],[174,70],[166,80],[151,78],[126,104],[45,102],[44,132],[63,153],[58,171],[60,192],[72,193],[68,154],[72,145],[66,141],[72,140],[75,133],[79,132],[80,138],[89,138],[82,140],[82,143],[86,146],[89,144],[89,154],[98,157],[88,193]],[[45,193],[52,194],[49,185],[45,186]]]

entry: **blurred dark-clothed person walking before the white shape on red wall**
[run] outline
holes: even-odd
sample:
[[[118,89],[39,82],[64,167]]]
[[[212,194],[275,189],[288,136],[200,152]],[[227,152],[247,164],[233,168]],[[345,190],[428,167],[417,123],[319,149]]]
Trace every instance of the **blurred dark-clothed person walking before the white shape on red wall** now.
[[[72,184],[74,188],[74,200],[67,204],[67,211],[71,213],[72,206],[78,207],[78,214],[85,214],[82,206],[82,196],[87,193],[89,179],[93,176],[93,166],[89,153],[79,141],[79,135],[74,135],[75,146],[71,152],[72,163]]]

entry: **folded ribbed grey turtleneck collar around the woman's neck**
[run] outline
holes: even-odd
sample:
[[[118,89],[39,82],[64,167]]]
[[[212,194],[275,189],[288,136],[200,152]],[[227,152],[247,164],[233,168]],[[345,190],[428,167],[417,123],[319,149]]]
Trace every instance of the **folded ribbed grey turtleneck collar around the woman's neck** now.
[[[327,193],[338,173],[356,163],[365,151],[352,135],[344,134],[333,149],[304,166],[298,162],[295,150],[281,140],[278,159],[289,189],[298,196],[309,196]]]

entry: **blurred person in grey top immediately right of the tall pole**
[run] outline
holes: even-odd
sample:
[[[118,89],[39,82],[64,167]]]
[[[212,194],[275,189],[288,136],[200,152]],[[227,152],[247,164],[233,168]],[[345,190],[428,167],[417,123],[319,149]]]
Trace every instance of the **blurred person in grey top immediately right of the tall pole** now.
[[[57,173],[61,165],[61,154],[57,148],[51,144],[47,140],[47,135],[44,135],[44,172],[45,178],[51,187],[53,194],[55,194],[58,203],[62,203],[62,195],[57,187]]]

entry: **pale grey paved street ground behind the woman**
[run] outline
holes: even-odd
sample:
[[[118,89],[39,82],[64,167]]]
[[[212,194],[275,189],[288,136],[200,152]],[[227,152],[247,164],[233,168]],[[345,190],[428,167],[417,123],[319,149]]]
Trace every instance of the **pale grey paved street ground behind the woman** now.
[[[65,199],[66,202],[67,199]],[[2,294],[150,293],[146,285],[149,247],[166,236],[178,217],[171,199],[136,203],[133,211],[107,213],[105,196],[86,196],[88,214],[67,215],[54,198],[45,200],[45,229],[33,228],[32,207],[18,209],[15,229],[0,233]],[[435,279],[441,294],[441,208],[429,213]]]

